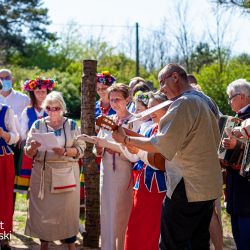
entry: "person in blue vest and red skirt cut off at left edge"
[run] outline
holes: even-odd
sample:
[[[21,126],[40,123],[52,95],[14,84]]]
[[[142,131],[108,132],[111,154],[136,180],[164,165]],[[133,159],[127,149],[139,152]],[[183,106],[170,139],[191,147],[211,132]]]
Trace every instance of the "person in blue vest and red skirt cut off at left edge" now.
[[[0,81],[0,92],[2,83]],[[19,139],[14,121],[14,112],[6,105],[0,104],[0,235],[12,232],[14,159],[9,145]],[[10,249],[8,240],[1,241],[1,249]]]

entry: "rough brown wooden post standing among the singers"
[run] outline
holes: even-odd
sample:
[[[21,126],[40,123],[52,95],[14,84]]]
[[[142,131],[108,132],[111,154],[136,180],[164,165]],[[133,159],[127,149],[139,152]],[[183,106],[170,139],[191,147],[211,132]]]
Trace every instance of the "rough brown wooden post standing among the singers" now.
[[[82,133],[95,135],[95,101],[96,101],[97,61],[83,61],[81,85],[81,130]],[[83,165],[85,168],[85,229],[84,245],[97,248],[100,235],[100,199],[99,173],[92,153],[93,145],[87,143]]]

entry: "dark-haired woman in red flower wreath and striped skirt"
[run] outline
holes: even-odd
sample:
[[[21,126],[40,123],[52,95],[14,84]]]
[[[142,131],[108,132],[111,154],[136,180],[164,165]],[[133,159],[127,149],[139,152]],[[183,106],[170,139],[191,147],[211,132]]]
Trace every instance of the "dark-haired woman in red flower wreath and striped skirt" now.
[[[22,147],[25,144],[27,134],[32,124],[37,120],[47,116],[47,112],[41,107],[47,94],[54,88],[53,79],[44,79],[37,77],[34,80],[27,80],[23,89],[29,92],[31,106],[25,108],[21,115],[21,138]],[[28,158],[21,151],[18,171],[15,177],[15,191],[26,193],[29,188],[30,176],[32,170],[32,159]]]

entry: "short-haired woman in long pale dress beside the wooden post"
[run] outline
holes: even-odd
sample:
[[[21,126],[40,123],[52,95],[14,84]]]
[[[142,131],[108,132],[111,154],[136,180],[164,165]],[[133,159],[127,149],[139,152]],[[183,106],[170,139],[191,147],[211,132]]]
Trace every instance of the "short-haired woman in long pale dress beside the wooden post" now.
[[[126,107],[129,102],[128,86],[125,84],[111,86],[108,97],[111,107],[116,111],[110,118],[117,124],[126,126],[132,117]],[[98,137],[112,140],[111,133],[103,129],[100,130]],[[97,153],[102,155],[100,168],[102,250],[123,250],[132,206],[131,162],[118,152],[97,147]]]

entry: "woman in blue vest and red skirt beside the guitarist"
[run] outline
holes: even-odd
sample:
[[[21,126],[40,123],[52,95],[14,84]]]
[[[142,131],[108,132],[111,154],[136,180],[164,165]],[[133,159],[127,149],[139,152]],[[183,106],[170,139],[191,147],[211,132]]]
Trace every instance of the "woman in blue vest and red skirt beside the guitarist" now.
[[[148,97],[148,108],[167,100],[166,96],[159,92],[150,92]],[[146,137],[157,133],[158,124],[165,113],[166,108],[162,108],[150,115],[154,124],[148,126],[148,129],[144,132]],[[124,140],[125,138],[122,138],[120,142],[124,142]],[[131,147],[129,149],[132,150]],[[139,151],[136,148],[133,148],[132,151],[137,154],[140,160],[134,166],[137,177],[134,185],[133,207],[126,231],[124,250],[157,250],[159,249],[162,201],[167,191],[166,173],[150,166],[145,157],[147,154],[144,151]],[[128,159],[130,158],[128,154],[126,156]]]

